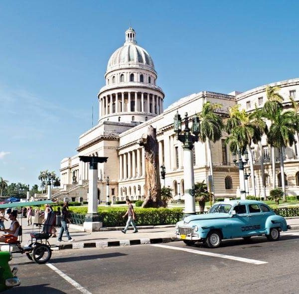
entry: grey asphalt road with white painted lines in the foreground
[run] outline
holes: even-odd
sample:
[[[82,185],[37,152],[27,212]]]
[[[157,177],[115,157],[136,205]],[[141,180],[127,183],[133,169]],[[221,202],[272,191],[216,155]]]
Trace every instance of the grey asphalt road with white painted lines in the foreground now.
[[[299,293],[299,231],[223,241],[217,249],[182,242],[53,252],[50,264],[15,255],[21,286],[5,293]],[[64,278],[65,279],[64,279]]]

